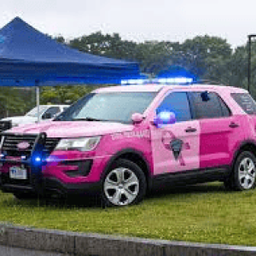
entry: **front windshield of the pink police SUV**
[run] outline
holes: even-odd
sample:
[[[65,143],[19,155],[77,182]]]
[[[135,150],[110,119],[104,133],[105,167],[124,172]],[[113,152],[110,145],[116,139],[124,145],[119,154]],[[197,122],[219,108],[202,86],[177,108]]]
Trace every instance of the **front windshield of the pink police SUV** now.
[[[88,120],[131,123],[132,113],[143,113],[155,92],[91,93],[67,108],[55,120]]]

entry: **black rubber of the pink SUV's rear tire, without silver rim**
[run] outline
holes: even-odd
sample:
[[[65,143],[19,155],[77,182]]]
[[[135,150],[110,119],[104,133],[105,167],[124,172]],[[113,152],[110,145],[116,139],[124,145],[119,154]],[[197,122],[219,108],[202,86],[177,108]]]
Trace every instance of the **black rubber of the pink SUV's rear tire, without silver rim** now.
[[[234,172],[233,172],[233,183],[234,183],[234,189],[236,190],[249,190],[249,189],[244,189],[241,186],[241,183],[239,181],[239,166],[241,164],[241,161],[245,158],[250,158],[251,160],[253,160],[254,166],[256,166],[256,157],[254,154],[252,154],[249,151],[243,151],[241,152],[241,154],[238,155],[235,165],[234,165]],[[253,183],[253,187],[250,189],[254,189],[256,185],[256,179],[254,179],[254,183]]]

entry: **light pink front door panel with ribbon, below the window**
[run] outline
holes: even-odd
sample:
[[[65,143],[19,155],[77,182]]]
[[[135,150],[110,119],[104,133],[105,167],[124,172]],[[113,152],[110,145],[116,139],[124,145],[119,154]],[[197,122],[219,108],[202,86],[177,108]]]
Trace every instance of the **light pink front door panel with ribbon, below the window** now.
[[[186,133],[185,130],[190,126],[196,129],[195,133]],[[200,126],[197,120],[167,125],[163,128],[152,126],[151,134],[154,175],[199,168]],[[183,141],[183,146],[176,159],[170,148],[170,143],[177,138]]]

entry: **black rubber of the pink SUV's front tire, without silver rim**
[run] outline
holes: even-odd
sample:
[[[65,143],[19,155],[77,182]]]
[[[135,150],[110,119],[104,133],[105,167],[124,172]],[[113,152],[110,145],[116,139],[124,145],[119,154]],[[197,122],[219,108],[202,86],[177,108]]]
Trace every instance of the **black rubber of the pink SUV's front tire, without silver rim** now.
[[[137,176],[137,179],[139,181],[139,192],[137,194],[137,198],[134,201],[132,201],[129,205],[125,205],[125,206],[114,205],[111,201],[108,200],[108,197],[105,195],[105,192],[104,192],[104,182],[105,182],[106,177],[108,176],[108,173],[113,171],[113,169],[116,169],[119,167],[125,167],[125,168],[130,169],[132,172],[134,172],[134,174]],[[107,207],[127,207],[127,206],[131,206],[131,205],[135,205],[135,204],[139,203],[140,201],[143,201],[143,197],[146,194],[146,190],[147,190],[146,177],[145,177],[142,169],[139,166],[137,166],[137,164],[132,162],[131,160],[125,160],[125,159],[115,160],[113,162],[113,165],[108,169],[108,171],[105,173],[104,177],[102,178],[102,201],[103,201],[104,205]]]

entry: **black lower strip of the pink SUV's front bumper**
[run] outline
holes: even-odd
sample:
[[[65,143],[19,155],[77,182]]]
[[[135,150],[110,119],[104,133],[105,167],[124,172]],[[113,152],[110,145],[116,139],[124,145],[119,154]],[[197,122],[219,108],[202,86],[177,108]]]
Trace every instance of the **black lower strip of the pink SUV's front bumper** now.
[[[9,193],[41,193],[59,194],[59,195],[96,195],[101,192],[102,183],[61,183],[55,177],[43,177],[39,183],[28,184],[11,184],[3,183],[0,177],[0,189]]]

